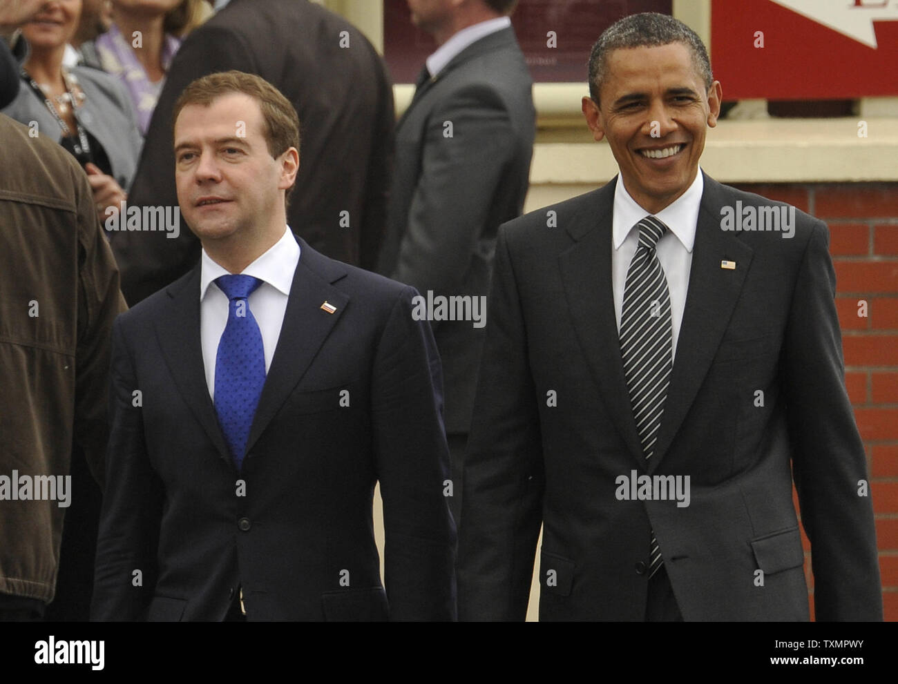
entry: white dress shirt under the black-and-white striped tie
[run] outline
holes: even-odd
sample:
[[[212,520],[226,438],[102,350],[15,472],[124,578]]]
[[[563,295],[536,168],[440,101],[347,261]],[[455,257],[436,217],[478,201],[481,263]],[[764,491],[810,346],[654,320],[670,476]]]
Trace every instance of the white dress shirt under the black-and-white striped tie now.
[[[661,267],[665,269],[667,289],[671,295],[671,327],[674,333],[674,356],[680,336],[682,312],[686,308],[686,293],[689,290],[689,272],[692,267],[692,247],[695,244],[695,228],[699,222],[701,194],[705,180],[701,169],[695,175],[689,189],[669,206],[665,206],[655,216],[670,229],[656,246],[656,254]],[[636,224],[648,212],[639,206],[623,186],[620,174],[614,188],[614,213],[612,220],[612,289],[614,291],[614,315],[617,317],[618,332],[621,332],[621,311],[623,310],[623,289],[627,283],[629,262],[636,253],[639,231]]]

